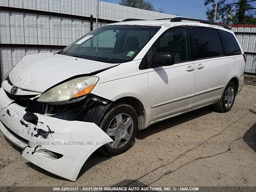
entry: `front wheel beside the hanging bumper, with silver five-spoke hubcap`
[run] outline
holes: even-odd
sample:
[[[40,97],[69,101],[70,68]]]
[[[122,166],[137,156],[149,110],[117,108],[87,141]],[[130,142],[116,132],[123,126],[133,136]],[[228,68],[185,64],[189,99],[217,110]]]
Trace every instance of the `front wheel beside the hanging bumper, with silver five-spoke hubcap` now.
[[[124,103],[114,103],[107,110],[100,123],[100,128],[113,142],[99,149],[107,156],[115,156],[126,152],[133,144],[138,131],[138,118],[135,110]]]

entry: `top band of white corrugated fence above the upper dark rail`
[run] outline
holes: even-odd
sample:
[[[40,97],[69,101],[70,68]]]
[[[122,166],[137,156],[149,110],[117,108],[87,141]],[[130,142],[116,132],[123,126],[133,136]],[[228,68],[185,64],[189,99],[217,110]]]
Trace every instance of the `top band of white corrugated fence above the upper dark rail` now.
[[[96,0],[0,0],[0,6],[26,8],[89,17],[96,16]],[[63,10],[63,12],[62,12]],[[175,15],[142,10],[99,1],[99,18],[121,21],[126,18],[174,18]]]

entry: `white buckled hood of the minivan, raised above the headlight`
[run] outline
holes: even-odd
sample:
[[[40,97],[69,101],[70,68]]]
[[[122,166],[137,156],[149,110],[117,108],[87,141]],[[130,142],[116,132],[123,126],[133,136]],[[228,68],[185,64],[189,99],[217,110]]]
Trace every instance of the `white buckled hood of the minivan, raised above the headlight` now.
[[[117,65],[54,53],[33,54],[25,56],[15,66],[9,79],[18,88],[43,93],[73,76],[90,74]]]

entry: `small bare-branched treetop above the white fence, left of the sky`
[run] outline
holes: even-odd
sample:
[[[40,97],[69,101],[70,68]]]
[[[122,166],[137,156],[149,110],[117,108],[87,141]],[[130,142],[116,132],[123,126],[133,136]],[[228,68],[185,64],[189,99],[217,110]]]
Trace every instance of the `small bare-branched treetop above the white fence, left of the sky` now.
[[[155,11],[152,3],[144,0],[120,0],[119,5]]]

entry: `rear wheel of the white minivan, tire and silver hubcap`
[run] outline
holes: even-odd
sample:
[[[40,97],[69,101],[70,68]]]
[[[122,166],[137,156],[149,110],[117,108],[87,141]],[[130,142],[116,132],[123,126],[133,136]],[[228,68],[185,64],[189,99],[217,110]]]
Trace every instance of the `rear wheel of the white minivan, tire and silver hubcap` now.
[[[224,89],[219,102],[214,105],[214,108],[219,112],[228,112],[232,108],[235,98],[236,85],[234,84],[234,82],[229,82]]]

